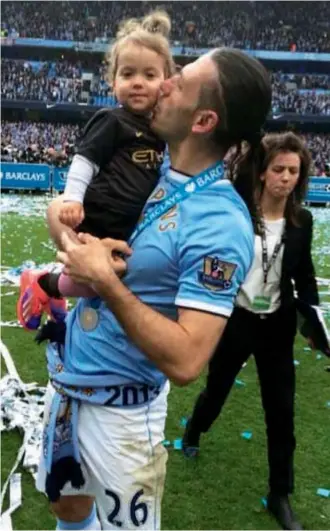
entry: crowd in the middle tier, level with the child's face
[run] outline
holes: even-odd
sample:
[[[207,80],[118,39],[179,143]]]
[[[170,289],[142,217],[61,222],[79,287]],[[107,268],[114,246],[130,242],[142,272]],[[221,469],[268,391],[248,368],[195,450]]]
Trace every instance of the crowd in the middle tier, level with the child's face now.
[[[82,102],[82,66],[67,61],[31,65],[3,59],[1,97],[6,100]],[[104,66],[97,67],[89,102],[113,104],[105,80]],[[330,75],[272,73],[273,113],[321,114],[330,116]],[[100,101],[99,98],[106,98]],[[108,98],[109,97],[109,98]]]

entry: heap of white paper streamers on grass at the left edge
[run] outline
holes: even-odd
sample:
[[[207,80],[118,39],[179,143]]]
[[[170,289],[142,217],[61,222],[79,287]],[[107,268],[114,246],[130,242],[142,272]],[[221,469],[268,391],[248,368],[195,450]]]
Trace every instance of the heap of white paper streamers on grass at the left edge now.
[[[21,476],[15,474],[22,459],[23,467],[34,478],[36,477],[42,443],[42,415],[46,388],[39,387],[35,382],[25,384],[1,340],[0,350],[8,371],[0,381],[1,431],[18,429],[24,433],[22,446],[1,492],[0,512],[8,485],[10,486],[9,508],[2,514],[1,526],[3,529],[11,529],[11,514],[21,505],[22,499]]]

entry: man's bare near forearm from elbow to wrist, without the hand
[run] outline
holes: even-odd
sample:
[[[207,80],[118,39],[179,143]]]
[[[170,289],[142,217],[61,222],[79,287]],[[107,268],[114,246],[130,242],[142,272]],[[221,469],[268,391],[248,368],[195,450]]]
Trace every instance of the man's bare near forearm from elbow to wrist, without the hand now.
[[[115,277],[95,285],[128,337],[158,368],[179,385],[194,379],[194,348],[189,333],[179,323],[143,304]]]

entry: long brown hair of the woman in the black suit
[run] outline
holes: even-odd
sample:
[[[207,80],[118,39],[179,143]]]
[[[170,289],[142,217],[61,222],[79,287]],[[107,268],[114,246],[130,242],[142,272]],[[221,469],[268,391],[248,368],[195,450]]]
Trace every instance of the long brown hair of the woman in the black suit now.
[[[293,225],[299,225],[299,211],[301,204],[304,201],[308,188],[308,178],[311,167],[310,152],[298,135],[292,132],[287,133],[272,133],[265,135],[262,140],[263,157],[259,160],[258,180],[255,187],[255,200],[259,202],[264,184],[260,180],[260,176],[265,173],[274,158],[280,153],[296,153],[300,158],[300,171],[298,182],[289,195],[285,217]]]

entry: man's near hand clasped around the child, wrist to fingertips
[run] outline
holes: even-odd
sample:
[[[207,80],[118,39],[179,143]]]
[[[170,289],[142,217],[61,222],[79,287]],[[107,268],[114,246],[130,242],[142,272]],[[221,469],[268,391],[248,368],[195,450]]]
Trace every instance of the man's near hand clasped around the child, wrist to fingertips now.
[[[126,272],[125,260],[118,255],[129,256],[132,250],[126,242],[106,238],[100,240],[89,234],[79,234],[75,243],[66,233],[62,234],[57,259],[64,264],[64,273],[80,284],[107,284],[112,276]]]

